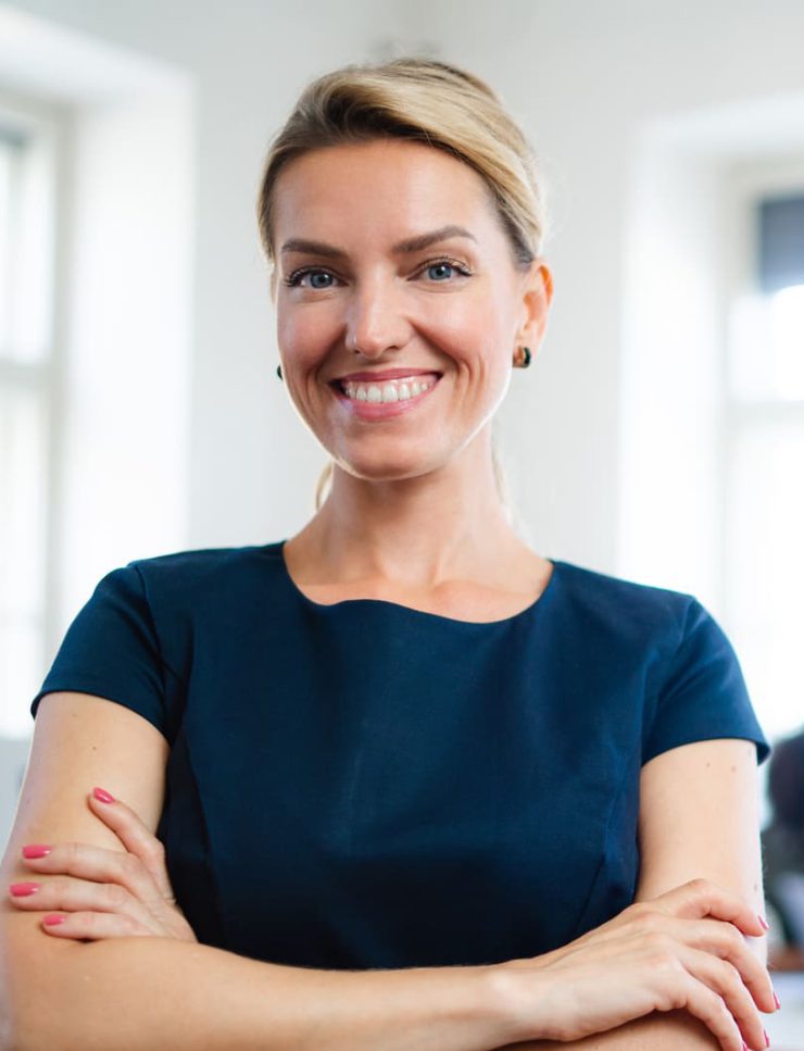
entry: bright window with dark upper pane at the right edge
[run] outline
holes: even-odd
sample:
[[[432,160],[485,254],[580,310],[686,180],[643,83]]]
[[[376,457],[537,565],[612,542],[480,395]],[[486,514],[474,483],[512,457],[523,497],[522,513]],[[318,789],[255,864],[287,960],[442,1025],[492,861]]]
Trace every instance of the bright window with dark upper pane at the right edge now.
[[[771,738],[804,723],[804,175],[749,180],[726,404],[726,605]]]

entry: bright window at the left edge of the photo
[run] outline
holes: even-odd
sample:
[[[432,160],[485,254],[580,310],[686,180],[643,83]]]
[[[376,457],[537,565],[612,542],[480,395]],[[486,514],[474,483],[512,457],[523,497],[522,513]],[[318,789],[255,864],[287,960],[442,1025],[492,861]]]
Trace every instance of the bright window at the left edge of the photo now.
[[[0,96],[0,737],[41,679],[52,513],[56,121]]]

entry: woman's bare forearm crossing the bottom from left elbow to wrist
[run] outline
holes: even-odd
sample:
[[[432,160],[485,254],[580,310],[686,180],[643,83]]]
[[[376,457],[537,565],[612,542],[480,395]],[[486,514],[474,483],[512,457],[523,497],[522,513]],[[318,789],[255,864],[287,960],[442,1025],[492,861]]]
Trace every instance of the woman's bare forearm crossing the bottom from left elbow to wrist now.
[[[13,1051],[489,1051],[511,1038],[485,967],[319,971],[164,938],[51,942],[37,965],[39,933],[25,934],[22,956],[1,947]]]

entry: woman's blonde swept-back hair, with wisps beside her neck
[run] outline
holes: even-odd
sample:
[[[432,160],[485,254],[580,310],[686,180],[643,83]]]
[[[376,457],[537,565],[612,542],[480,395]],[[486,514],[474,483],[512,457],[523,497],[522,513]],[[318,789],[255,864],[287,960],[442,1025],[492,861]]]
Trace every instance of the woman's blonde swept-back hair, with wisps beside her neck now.
[[[350,64],[309,84],[273,139],[256,203],[260,241],[275,265],[274,189],[282,168],[312,150],[377,138],[402,138],[444,150],[474,168],[493,198],[515,265],[527,270],[545,233],[536,155],[518,124],[488,84],[447,62],[400,58]],[[505,476],[492,438],[498,491],[511,517]],[[331,478],[324,468],[316,510]]]

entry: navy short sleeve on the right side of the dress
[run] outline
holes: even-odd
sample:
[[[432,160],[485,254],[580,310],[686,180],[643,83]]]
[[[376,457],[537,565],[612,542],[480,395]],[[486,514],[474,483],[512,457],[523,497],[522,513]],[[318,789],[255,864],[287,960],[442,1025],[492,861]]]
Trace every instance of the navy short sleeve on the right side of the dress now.
[[[724,737],[754,741],[757,764],[770,754],[729,639],[691,598],[681,639],[646,726],[642,762],[679,745]]]

